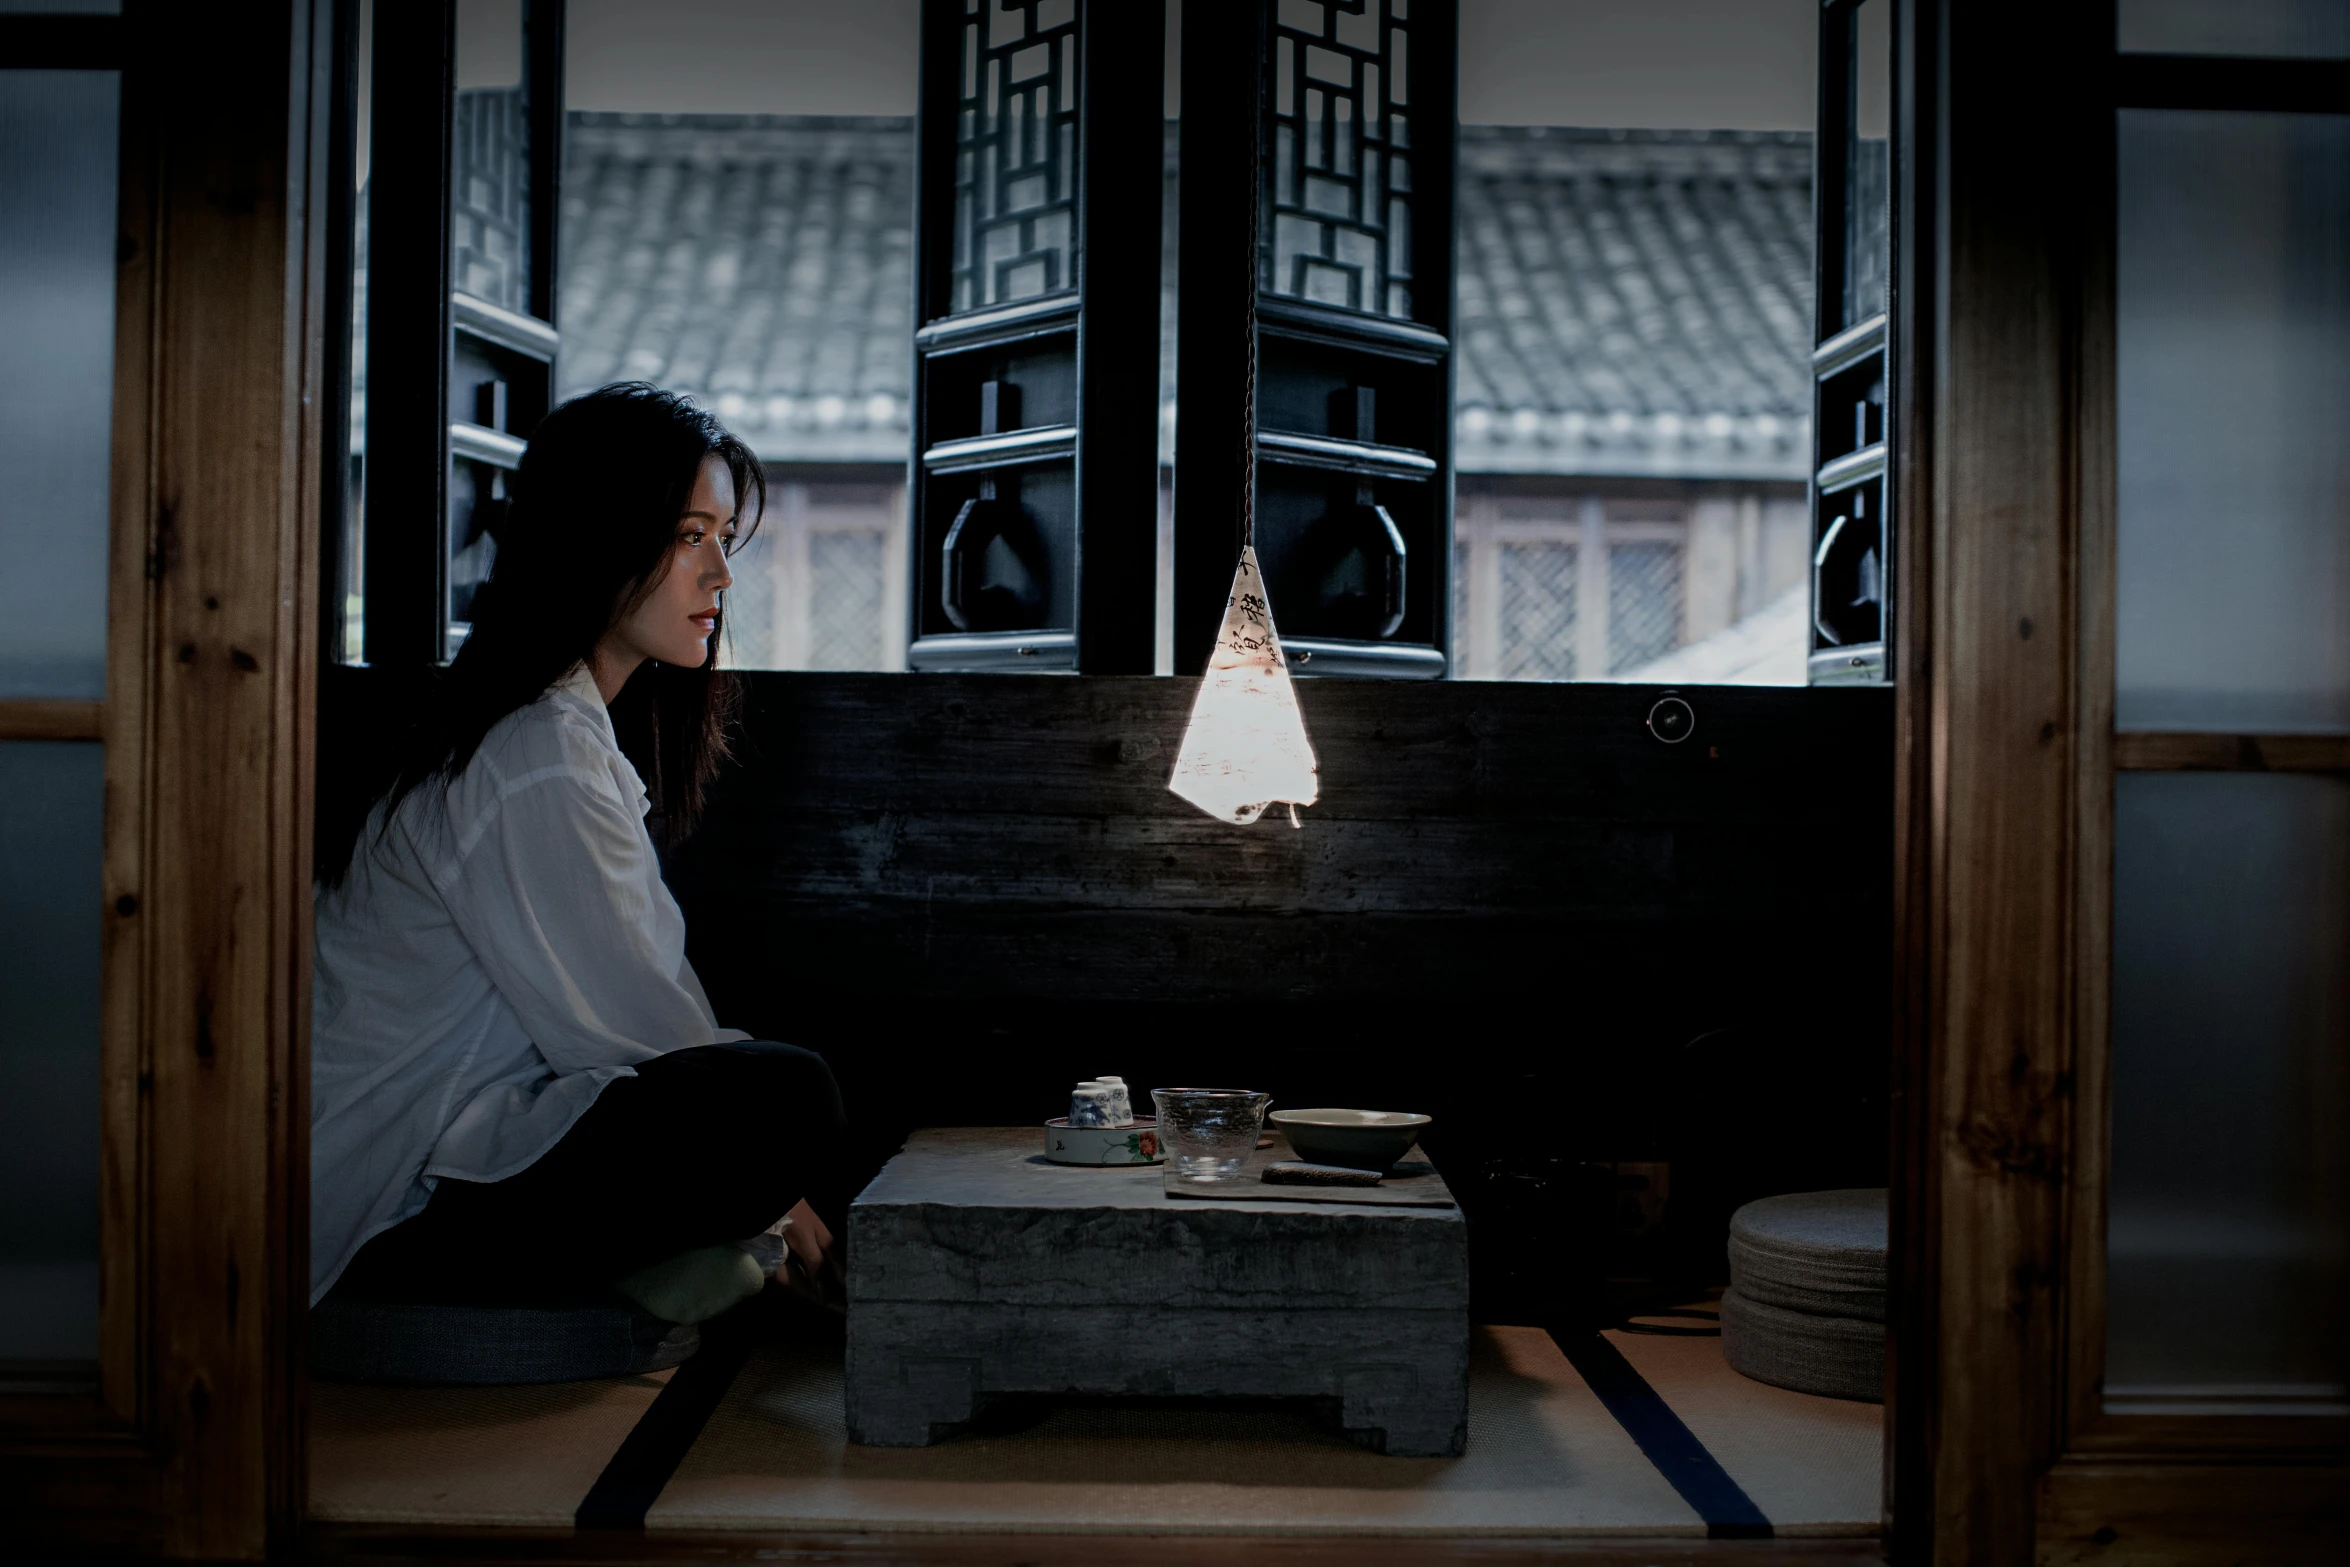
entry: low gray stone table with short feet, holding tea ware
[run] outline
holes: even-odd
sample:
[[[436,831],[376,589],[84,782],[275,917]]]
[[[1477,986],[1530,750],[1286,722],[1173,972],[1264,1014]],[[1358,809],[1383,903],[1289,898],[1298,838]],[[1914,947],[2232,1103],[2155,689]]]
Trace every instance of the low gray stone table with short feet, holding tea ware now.
[[[1459,1454],[1466,1224],[1170,1198],[1161,1165],[1055,1165],[1036,1128],[914,1132],[848,1210],[848,1435],[924,1447],[999,1393],[1318,1398],[1368,1447]]]

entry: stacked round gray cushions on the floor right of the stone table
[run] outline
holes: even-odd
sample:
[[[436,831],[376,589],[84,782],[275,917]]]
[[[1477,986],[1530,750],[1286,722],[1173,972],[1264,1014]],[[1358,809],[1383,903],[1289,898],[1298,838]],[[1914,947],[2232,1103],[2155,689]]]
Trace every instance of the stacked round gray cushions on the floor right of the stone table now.
[[[1885,1400],[1885,1189],[1795,1191],[1730,1217],[1730,1370],[1826,1398]]]

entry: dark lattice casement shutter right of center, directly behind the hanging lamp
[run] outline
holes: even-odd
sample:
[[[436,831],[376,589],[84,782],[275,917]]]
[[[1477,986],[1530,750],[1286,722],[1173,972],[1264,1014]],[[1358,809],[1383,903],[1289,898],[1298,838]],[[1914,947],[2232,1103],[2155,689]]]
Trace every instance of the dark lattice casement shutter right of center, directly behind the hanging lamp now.
[[[1180,674],[1222,623],[1250,418],[1290,667],[1445,672],[1455,35],[1450,0],[1184,14]]]

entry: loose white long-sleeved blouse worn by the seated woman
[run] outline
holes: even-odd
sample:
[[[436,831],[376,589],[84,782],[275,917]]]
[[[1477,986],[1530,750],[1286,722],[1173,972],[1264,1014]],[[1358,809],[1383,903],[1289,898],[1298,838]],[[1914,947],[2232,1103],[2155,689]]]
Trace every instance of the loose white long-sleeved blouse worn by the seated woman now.
[[[505,1179],[637,1064],[750,1038],[686,963],[644,811],[583,665],[369,820],[317,902],[313,1302],[439,1177]]]

